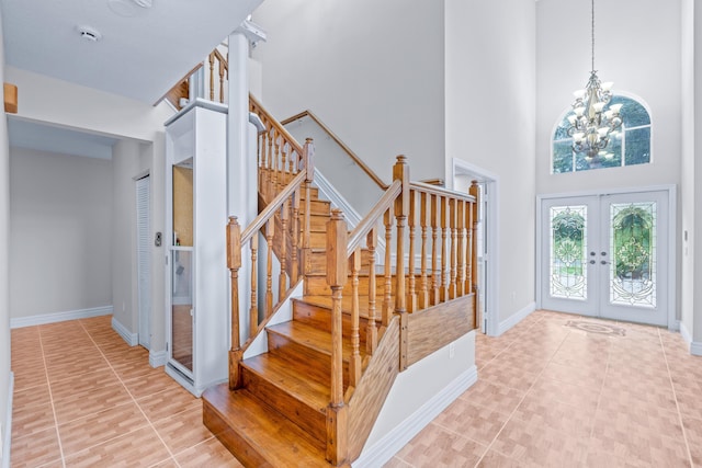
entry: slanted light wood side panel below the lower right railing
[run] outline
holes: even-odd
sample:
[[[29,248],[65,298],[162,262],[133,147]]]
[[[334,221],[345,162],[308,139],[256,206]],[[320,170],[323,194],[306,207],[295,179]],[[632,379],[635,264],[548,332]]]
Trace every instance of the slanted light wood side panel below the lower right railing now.
[[[350,460],[361,455],[397,374],[399,374],[399,318],[394,317],[349,402]]]

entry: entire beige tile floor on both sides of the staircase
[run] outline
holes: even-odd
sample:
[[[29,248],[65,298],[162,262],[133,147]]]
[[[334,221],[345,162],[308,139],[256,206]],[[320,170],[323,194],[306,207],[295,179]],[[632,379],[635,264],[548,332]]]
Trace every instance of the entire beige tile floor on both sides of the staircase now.
[[[110,317],[12,330],[12,466],[240,466]],[[702,467],[702,358],[667,330],[536,311],[396,467]]]

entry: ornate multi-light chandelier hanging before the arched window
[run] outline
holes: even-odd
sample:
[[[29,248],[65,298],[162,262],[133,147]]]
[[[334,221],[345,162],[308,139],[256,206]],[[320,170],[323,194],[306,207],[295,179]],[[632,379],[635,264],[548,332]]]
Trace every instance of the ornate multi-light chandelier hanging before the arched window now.
[[[584,90],[574,92],[573,113],[568,115],[568,136],[573,138],[573,151],[584,153],[590,167],[600,165],[603,159],[614,155],[605,148],[613,133],[622,126],[622,104],[612,104],[612,83],[602,83],[595,69],[595,0],[592,0],[592,68]],[[607,109],[605,109],[607,107]]]

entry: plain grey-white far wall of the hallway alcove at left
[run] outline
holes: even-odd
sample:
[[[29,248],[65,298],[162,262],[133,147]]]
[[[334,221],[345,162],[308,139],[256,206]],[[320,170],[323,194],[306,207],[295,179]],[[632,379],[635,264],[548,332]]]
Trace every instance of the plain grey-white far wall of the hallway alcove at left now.
[[[10,148],[12,318],[112,304],[112,164]]]

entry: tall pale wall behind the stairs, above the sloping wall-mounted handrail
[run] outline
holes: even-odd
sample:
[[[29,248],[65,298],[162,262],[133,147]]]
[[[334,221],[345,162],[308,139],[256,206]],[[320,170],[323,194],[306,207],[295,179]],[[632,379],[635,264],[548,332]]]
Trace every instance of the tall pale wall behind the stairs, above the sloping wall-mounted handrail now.
[[[263,105],[279,119],[309,109],[387,182],[400,153],[412,180],[442,178],[442,5],[264,1],[253,12],[269,33],[253,50]]]

